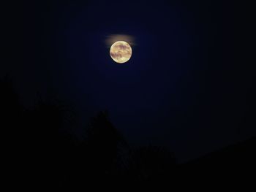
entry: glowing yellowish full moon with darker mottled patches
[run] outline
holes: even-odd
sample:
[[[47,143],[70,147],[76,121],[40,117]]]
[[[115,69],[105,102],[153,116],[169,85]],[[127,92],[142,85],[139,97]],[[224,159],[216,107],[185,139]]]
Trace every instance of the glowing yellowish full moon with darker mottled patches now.
[[[132,47],[127,42],[118,41],[110,47],[110,56],[118,64],[124,64],[132,56]]]

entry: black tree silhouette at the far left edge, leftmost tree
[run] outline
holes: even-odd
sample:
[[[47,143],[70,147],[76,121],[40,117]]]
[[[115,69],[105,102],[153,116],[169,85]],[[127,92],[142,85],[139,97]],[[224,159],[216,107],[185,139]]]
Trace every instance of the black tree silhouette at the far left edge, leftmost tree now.
[[[10,179],[14,175],[19,177],[23,171],[21,157],[24,147],[21,135],[23,109],[13,86],[8,78],[0,80],[1,164],[7,168],[2,170],[2,175]]]

